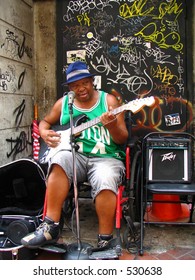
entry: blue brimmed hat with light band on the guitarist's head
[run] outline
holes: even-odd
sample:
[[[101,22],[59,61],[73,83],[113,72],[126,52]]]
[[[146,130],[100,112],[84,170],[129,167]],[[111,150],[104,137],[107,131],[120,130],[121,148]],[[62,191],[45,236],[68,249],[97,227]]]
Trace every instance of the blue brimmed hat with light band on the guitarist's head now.
[[[95,74],[91,74],[87,68],[87,65],[82,61],[76,61],[71,63],[66,70],[66,82],[64,84],[70,84],[78,80],[93,77]]]

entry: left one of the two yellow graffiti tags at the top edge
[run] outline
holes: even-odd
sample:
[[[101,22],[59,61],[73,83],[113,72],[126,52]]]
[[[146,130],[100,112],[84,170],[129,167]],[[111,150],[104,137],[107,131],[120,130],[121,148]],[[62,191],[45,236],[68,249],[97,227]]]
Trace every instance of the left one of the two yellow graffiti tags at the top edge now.
[[[144,10],[147,0],[135,1],[131,6],[124,3],[119,7],[119,15],[125,19],[135,16],[148,16],[154,10],[154,7]]]

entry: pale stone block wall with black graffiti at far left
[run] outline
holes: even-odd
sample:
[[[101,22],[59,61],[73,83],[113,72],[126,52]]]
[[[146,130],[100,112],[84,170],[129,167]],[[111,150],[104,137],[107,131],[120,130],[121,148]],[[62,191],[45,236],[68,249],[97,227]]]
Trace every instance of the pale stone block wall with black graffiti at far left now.
[[[32,154],[33,14],[31,0],[0,0],[0,6],[0,165],[3,165]]]

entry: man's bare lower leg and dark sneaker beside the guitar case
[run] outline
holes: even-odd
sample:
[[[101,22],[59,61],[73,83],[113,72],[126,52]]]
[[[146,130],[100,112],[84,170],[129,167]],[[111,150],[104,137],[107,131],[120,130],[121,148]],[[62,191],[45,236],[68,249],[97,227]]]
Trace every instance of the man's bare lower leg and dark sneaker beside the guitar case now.
[[[54,164],[47,181],[46,216],[43,223],[34,232],[21,239],[22,245],[38,248],[58,240],[62,205],[68,191],[69,182],[64,170],[59,165]]]

